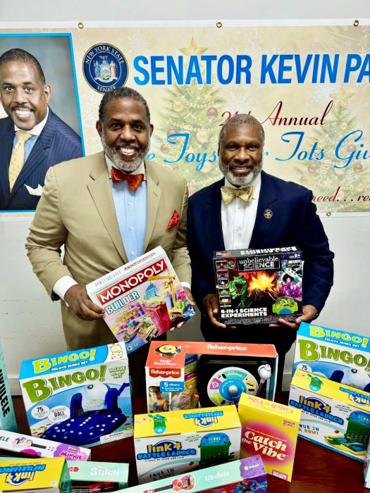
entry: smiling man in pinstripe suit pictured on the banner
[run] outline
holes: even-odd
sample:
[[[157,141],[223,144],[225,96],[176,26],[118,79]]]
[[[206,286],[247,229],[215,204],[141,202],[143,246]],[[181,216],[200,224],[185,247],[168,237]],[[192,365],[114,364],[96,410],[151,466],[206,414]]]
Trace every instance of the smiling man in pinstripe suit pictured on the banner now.
[[[49,108],[51,87],[37,59],[23,49],[0,56],[0,211],[33,211],[50,166],[82,156],[79,135]],[[18,131],[27,134],[24,164],[9,182]]]

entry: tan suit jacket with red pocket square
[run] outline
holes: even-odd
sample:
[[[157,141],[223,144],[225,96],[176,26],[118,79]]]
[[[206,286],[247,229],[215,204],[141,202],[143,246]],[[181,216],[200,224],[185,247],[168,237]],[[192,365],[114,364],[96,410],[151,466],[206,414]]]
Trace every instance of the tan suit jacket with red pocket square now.
[[[156,163],[145,162],[145,170],[147,234],[144,252],[162,246],[180,281],[190,282],[186,182],[173,170]],[[178,211],[180,223],[166,231],[174,211]],[[57,299],[52,291],[54,284],[64,275],[87,285],[128,262],[116,220],[104,152],[49,168],[26,248],[35,274],[52,299]],[[80,320],[63,301],[61,311],[68,349],[116,340],[104,320]]]

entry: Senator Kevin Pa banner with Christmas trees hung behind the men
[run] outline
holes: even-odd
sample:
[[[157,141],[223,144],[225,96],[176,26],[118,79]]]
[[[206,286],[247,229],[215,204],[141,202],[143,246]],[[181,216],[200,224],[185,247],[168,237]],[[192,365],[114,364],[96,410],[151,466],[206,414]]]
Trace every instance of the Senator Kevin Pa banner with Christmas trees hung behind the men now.
[[[127,85],[151,111],[147,159],[181,173],[190,193],[221,177],[223,123],[250,113],[266,134],[264,170],[312,189],[321,213],[370,212],[369,23],[3,29],[0,55],[13,47],[39,59],[49,108],[86,155],[101,150],[101,97]]]

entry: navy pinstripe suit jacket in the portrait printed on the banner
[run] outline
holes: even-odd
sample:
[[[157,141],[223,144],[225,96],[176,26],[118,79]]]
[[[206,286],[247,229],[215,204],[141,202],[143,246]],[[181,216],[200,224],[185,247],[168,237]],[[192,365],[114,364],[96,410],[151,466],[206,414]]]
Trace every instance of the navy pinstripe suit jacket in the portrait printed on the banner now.
[[[20,174],[9,191],[8,168],[13,149],[14,123],[0,119],[0,211],[34,211],[39,196],[30,195],[25,185],[33,189],[44,186],[47,170],[61,161],[79,158],[81,138],[49,108],[47,123],[42,129]]]

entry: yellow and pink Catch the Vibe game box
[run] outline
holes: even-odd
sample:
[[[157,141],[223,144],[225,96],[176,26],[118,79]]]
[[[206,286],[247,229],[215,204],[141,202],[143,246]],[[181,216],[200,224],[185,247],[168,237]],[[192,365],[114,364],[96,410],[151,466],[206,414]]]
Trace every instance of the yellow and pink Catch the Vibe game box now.
[[[268,474],[291,481],[300,409],[242,394],[238,412],[242,423],[240,456],[260,454]]]

